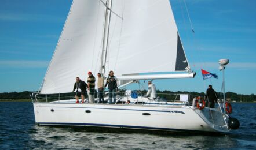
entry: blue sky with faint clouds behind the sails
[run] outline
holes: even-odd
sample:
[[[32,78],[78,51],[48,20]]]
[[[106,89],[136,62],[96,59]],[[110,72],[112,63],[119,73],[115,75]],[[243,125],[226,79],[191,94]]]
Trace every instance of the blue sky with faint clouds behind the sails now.
[[[170,0],[192,79],[155,80],[160,90],[221,90],[218,60],[229,59],[226,92],[256,94],[256,1]],[[0,92],[37,91],[52,58],[71,0],[0,1]],[[203,80],[200,69],[218,79]],[[144,84],[147,89],[147,85]]]

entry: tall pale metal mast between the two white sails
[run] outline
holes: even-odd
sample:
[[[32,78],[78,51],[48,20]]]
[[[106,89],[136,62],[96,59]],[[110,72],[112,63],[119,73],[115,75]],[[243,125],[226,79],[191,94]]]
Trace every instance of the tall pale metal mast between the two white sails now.
[[[109,24],[111,17],[111,6],[112,0],[107,0],[105,3],[106,12],[105,12],[105,22],[104,22],[104,35],[103,35],[103,49],[101,54],[101,63],[100,63],[100,73],[103,78],[105,76],[105,65],[107,61],[107,49],[108,49],[108,35],[109,35]]]

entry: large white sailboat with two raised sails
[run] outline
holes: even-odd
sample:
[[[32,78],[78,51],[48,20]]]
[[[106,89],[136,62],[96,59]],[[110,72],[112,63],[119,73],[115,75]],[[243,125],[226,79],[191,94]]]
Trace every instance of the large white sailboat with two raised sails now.
[[[195,77],[169,0],[74,0],[41,88],[32,96],[35,122],[171,132],[231,130],[231,117],[221,108],[198,108],[188,95],[168,102],[126,91],[116,104],[47,101],[49,95],[71,92],[75,77],[86,79],[89,70],[104,77],[114,70],[119,87],[139,80]],[[46,95],[46,102],[38,95]]]

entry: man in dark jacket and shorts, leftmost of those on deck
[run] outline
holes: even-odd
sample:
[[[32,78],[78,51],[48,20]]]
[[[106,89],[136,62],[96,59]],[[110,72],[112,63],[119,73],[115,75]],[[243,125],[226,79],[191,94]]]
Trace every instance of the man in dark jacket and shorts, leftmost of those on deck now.
[[[73,92],[75,93],[76,103],[79,103],[78,99],[81,96],[82,103],[85,100],[85,93],[86,93],[87,84],[85,81],[82,81],[79,77],[76,77],[76,82],[74,84]]]

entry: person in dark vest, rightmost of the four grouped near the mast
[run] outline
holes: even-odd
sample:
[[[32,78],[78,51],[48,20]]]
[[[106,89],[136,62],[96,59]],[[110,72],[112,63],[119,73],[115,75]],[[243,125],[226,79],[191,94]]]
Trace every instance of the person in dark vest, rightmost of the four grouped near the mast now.
[[[109,72],[108,78],[107,78],[107,82],[105,87],[107,87],[108,85],[108,93],[109,93],[109,104],[112,103],[116,103],[116,89],[118,91],[118,85],[117,85],[117,81],[116,81],[116,77],[114,76],[114,72],[111,70]],[[112,99],[114,99],[112,101]]]

